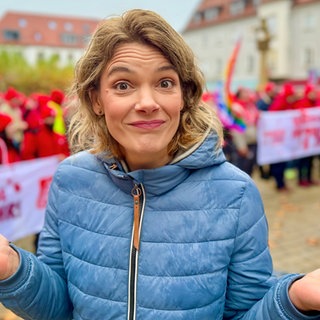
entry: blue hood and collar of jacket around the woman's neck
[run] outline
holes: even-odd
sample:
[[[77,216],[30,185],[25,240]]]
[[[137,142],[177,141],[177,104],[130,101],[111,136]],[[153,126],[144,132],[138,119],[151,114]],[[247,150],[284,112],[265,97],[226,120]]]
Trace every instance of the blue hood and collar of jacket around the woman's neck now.
[[[134,184],[143,184],[147,193],[161,195],[184,181],[192,171],[226,161],[222,149],[217,148],[217,141],[216,134],[209,134],[197,145],[178,154],[168,165],[155,169],[127,172],[124,163],[115,165],[114,159],[103,161],[111,179],[122,191],[129,193]]]

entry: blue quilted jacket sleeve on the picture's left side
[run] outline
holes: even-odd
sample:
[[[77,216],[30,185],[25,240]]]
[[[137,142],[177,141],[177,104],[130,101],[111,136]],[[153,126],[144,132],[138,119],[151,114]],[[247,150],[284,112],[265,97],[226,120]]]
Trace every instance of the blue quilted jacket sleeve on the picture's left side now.
[[[60,241],[57,233],[55,182],[51,185],[42,236],[40,259],[15,248],[20,254],[18,271],[0,282],[0,301],[23,319],[72,319],[72,306],[63,273]],[[46,263],[40,261],[45,260]]]

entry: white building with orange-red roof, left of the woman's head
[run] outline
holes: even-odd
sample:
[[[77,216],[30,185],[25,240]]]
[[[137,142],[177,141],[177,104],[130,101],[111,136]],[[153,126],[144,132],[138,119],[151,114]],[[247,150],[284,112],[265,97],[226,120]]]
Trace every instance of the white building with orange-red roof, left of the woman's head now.
[[[0,20],[0,50],[19,53],[32,64],[53,56],[61,65],[74,64],[98,22],[9,11]]]

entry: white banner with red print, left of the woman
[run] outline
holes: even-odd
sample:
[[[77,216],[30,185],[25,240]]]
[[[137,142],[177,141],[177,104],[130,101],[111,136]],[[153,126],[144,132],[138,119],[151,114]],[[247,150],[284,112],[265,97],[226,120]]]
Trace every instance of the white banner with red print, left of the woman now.
[[[9,241],[38,233],[56,156],[0,165],[0,233]]]

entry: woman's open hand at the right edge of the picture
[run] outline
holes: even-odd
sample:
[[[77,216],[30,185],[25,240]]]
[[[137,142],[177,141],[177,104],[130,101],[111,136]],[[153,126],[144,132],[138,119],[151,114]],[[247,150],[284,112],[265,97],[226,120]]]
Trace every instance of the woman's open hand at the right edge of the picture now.
[[[292,283],[289,297],[302,312],[320,311],[320,269]]]

